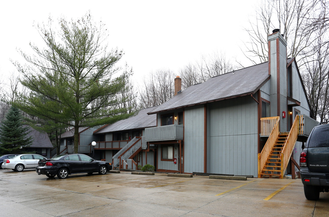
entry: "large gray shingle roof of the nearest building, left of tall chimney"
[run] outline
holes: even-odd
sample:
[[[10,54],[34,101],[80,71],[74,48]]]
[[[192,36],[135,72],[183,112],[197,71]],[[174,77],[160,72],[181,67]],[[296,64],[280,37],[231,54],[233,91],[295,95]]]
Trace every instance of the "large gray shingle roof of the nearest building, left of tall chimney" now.
[[[254,94],[268,79],[268,62],[212,77],[155,107],[148,114]]]

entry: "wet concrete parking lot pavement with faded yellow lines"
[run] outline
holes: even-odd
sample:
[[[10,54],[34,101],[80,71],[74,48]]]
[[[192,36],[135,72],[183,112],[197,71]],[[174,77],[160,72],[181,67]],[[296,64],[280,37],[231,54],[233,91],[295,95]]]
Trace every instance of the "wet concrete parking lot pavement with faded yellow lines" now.
[[[2,216],[329,216],[329,193],[305,199],[300,179],[247,181],[132,175],[47,178],[0,170]]]

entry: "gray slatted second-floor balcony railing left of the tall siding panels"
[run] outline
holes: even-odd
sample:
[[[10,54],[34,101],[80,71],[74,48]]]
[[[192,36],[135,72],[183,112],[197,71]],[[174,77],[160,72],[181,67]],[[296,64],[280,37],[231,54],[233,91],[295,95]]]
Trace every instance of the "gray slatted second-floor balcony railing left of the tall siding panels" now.
[[[145,128],[145,141],[183,140],[183,125]]]

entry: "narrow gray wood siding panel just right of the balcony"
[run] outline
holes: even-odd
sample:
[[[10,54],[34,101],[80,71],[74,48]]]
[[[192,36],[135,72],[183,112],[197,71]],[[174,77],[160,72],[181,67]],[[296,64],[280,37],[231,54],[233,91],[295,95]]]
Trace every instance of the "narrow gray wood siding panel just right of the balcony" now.
[[[184,172],[204,172],[204,106],[184,113]]]

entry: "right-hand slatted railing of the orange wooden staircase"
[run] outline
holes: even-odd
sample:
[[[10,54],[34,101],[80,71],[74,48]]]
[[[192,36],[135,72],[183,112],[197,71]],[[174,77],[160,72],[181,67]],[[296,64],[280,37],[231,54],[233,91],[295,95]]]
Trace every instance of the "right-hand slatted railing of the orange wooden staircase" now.
[[[296,115],[295,120],[293,121],[293,124],[291,126],[289,135],[287,137],[287,140],[285,142],[285,145],[283,146],[280,158],[283,159],[283,161],[281,161],[281,179],[284,178],[284,173],[287,169],[292,151],[293,151],[293,147],[295,146],[295,143],[297,141],[297,137],[299,134],[299,130],[300,130],[300,121],[299,121],[300,117],[299,115]],[[282,157],[283,154],[283,157]]]

